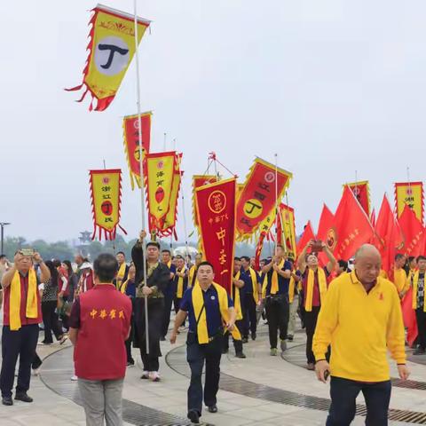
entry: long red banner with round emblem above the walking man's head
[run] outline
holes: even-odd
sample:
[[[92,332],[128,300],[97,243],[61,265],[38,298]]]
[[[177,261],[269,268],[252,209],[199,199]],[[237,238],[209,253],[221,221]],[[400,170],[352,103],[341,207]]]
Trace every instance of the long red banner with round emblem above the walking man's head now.
[[[204,257],[215,268],[215,282],[228,294],[233,282],[236,183],[233,177],[195,190]]]

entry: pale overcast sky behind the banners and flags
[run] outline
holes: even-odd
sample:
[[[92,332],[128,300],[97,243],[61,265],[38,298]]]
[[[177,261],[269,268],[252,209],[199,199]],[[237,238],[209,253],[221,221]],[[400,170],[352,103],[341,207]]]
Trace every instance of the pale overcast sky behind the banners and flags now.
[[[132,12],[131,0],[105,4]],[[122,168],[122,226],[140,228],[122,149],[122,116],[136,113],[130,67],[113,104],[89,113],[81,83],[95,2],[0,2],[0,221],[28,240],[92,229],[88,170]],[[209,151],[241,177],[255,155],[293,172],[300,231],[341,185],[369,179],[372,201],[426,168],[426,4],[395,0],[139,0],[153,20],[140,45],[142,108],[184,152],[186,219],[193,174]],[[134,64],[133,64],[134,65]],[[179,223],[182,209],[179,206]],[[183,237],[180,227],[179,236]]]

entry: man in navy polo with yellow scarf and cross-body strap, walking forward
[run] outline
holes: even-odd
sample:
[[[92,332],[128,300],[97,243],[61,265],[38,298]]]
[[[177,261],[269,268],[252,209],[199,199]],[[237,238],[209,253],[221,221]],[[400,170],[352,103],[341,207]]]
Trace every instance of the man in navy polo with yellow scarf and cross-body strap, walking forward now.
[[[224,331],[233,332],[236,312],[225,288],[214,283],[213,265],[201,262],[198,267],[198,284],[185,292],[170,343],[176,343],[178,327],[189,317],[186,341],[186,359],[191,367],[191,384],[188,389],[188,418],[198,423],[202,410],[202,368],[206,364],[204,404],[210,413],[217,413],[220,358]],[[225,326],[224,326],[225,324]],[[225,330],[224,330],[225,327]]]

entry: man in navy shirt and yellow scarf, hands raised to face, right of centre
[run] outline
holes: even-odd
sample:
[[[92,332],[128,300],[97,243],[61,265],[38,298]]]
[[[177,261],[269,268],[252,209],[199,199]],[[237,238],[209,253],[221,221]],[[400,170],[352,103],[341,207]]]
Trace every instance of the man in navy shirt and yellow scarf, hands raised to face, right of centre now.
[[[277,245],[275,256],[263,269],[264,286],[262,297],[266,299],[266,319],[269,327],[269,343],[271,344],[271,355],[278,355],[277,333],[280,330],[280,349],[287,349],[288,331],[288,285],[291,277],[291,264],[285,258],[285,251],[281,245]]]

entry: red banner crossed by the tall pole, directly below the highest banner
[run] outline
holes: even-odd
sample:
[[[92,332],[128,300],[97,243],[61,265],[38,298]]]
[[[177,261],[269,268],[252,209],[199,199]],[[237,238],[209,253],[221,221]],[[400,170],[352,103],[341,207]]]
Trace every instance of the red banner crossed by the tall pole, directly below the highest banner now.
[[[151,145],[151,112],[140,116],[142,123],[142,150],[143,154],[149,153]],[[140,188],[140,162],[139,162],[139,119],[138,114],[127,115],[122,121],[124,151],[130,172],[131,189],[135,189],[135,181]]]

